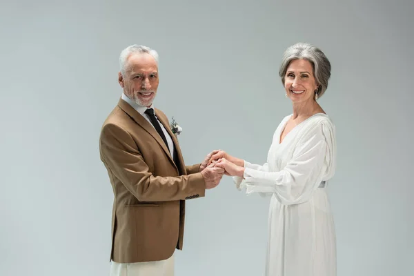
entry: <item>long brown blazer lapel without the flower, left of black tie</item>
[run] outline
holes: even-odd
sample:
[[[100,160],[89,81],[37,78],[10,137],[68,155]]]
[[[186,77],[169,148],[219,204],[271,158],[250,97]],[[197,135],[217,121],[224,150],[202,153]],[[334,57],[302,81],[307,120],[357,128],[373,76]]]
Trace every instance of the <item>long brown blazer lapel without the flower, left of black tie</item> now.
[[[124,110],[132,119],[134,119],[134,121],[136,121],[137,124],[139,124],[139,126],[144,128],[144,130],[146,130],[152,137],[154,137],[155,141],[157,141],[158,144],[161,146],[161,148],[163,148],[164,152],[166,152],[166,155],[170,159],[171,163],[175,166],[175,162],[172,159],[173,157],[171,156],[170,151],[168,150],[166,144],[164,143],[162,138],[159,136],[157,130],[155,130],[155,128],[152,126],[152,124],[150,124],[144,117],[142,117],[141,114],[139,114],[139,112],[137,112],[137,110],[132,108],[132,106],[130,106],[123,99],[119,99],[118,106],[119,108]],[[169,128],[166,128],[166,129],[169,130]],[[174,141],[174,138],[172,138],[172,140]],[[177,168],[177,166],[175,167]]]

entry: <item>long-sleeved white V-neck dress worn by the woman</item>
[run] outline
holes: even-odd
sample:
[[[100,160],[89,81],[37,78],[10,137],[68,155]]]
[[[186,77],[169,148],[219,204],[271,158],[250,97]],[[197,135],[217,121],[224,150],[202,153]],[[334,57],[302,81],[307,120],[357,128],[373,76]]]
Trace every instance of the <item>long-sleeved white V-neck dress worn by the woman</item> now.
[[[266,276],[335,276],[335,226],[326,193],[335,174],[335,126],[318,113],[279,144],[290,116],[277,127],[267,162],[244,161],[244,179],[233,179],[247,194],[271,195]]]

